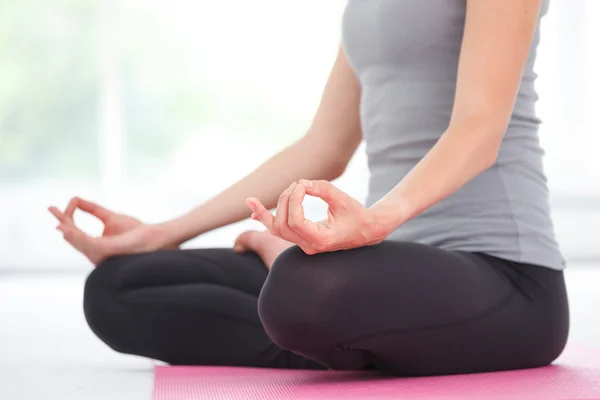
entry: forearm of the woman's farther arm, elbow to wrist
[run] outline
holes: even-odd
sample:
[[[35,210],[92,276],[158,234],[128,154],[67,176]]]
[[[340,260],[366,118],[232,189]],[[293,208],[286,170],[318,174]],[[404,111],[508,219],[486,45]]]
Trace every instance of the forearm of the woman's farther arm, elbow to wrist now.
[[[340,170],[341,166],[335,164],[323,147],[310,138],[303,138],[228,189],[192,211],[161,224],[160,228],[166,241],[181,244],[202,233],[248,218],[250,210],[245,200],[250,196],[273,208],[279,195],[292,182],[302,178],[335,179]]]

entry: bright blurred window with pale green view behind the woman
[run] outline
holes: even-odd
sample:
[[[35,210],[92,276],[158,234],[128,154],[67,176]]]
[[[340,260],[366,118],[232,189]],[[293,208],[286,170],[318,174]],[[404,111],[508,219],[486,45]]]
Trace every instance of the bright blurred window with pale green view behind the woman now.
[[[167,218],[302,135],[344,5],[1,2],[0,269],[81,264],[52,229],[49,204],[81,194]],[[557,212],[600,211],[599,16],[596,0],[554,0],[542,27],[538,110]],[[353,173],[365,177],[364,154],[357,160]],[[364,179],[344,185],[364,195]]]

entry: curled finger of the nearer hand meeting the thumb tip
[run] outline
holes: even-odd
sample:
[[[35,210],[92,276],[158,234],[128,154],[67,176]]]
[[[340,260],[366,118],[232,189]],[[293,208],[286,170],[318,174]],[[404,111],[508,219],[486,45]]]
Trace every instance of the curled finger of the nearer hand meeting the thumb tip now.
[[[331,228],[316,224],[304,217],[302,201],[306,192],[307,190],[304,185],[298,185],[292,193],[289,201],[288,225],[296,234],[313,247],[322,247],[331,239]]]

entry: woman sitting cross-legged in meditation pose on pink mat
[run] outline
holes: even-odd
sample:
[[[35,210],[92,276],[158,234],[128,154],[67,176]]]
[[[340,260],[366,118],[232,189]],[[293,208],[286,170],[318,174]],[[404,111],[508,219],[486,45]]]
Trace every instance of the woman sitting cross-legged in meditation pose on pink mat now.
[[[98,265],[92,330],[172,364],[436,375],[552,362],[569,315],[534,109],[547,6],[350,0],[298,142],[166,223],[78,198],[52,208]],[[363,138],[367,206],[329,183]],[[329,204],[327,220],[304,218],[305,195]],[[102,238],[76,227],[77,208],[104,222]],[[248,216],[268,231],[176,249]]]

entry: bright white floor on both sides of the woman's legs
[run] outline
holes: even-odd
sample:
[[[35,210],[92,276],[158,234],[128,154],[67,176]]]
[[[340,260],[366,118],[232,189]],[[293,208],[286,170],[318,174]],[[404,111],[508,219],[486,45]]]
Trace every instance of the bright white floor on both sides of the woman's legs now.
[[[0,274],[0,399],[149,400],[152,363],[97,340],[81,310],[85,276]],[[600,347],[600,265],[571,266],[571,340]]]

